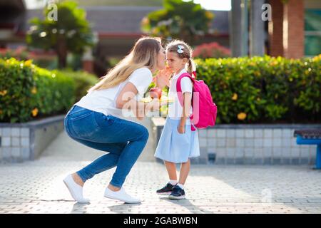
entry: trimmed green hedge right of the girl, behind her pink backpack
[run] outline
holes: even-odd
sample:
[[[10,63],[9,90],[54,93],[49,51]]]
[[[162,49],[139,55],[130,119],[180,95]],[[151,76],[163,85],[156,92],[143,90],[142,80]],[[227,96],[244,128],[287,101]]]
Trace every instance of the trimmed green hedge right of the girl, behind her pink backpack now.
[[[217,123],[320,123],[321,55],[196,59]]]

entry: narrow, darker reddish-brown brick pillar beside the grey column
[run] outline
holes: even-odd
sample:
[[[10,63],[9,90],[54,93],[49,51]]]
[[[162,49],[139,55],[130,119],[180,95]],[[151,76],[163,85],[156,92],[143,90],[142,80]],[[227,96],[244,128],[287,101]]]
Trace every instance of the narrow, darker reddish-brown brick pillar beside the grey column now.
[[[272,21],[269,21],[270,56],[283,56],[283,4],[280,0],[270,0]]]

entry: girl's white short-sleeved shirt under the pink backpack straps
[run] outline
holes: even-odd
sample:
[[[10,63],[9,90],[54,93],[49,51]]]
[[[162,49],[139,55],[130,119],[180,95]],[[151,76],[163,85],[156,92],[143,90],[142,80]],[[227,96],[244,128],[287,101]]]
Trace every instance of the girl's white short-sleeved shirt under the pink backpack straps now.
[[[183,107],[182,105],[180,105],[180,101],[178,100],[178,94],[176,91],[176,83],[182,73],[186,73],[186,70],[183,69],[182,71],[180,71],[180,73],[176,74],[170,79],[170,88],[168,90],[168,97],[174,100],[173,103],[170,103],[168,105],[168,117],[175,120],[180,119],[183,115]],[[182,94],[185,92],[193,93],[193,82],[190,80],[190,78],[182,78],[182,80],[180,80],[180,86],[182,88]],[[192,113],[193,109],[192,107],[190,107],[190,114]],[[190,123],[190,120],[187,119],[186,123]]]

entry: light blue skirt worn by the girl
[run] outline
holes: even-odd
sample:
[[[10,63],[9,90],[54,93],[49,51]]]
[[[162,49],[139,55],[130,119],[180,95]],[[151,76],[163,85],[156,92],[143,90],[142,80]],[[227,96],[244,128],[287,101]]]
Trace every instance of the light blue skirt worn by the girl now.
[[[178,133],[180,120],[166,118],[166,123],[159,139],[155,157],[174,163],[187,162],[190,157],[200,156],[198,130],[185,126],[185,133]]]

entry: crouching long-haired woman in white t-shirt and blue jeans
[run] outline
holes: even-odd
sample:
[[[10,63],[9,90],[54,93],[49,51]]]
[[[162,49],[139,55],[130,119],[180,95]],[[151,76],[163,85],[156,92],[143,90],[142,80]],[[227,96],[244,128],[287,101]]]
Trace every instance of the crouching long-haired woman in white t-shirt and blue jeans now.
[[[131,53],[93,86],[67,113],[66,133],[78,142],[108,152],[63,182],[73,199],[86,203],[83,184],[94,175],[117,167],[105,190],[105,197],[138,203],[122,185],[148,140],[148,130],[128,120],[133,113],[141,120],[150,110],[158,110],[158,100],[139,102],[153,80],[153,73],[165,68],[165,50],[158,38],[140,38]]]

